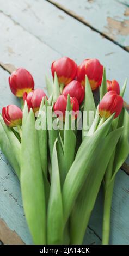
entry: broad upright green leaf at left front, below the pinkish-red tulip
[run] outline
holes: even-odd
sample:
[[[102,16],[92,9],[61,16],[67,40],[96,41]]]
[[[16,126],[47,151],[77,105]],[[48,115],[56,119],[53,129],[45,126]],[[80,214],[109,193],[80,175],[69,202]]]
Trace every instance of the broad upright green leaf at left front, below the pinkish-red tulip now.
[[[24,117],[23,117],[24,119]],[[38,134],[30,109],[23,122],[21,143],[21,192],[24,212],[35,244],[46,244],[46,205]]]

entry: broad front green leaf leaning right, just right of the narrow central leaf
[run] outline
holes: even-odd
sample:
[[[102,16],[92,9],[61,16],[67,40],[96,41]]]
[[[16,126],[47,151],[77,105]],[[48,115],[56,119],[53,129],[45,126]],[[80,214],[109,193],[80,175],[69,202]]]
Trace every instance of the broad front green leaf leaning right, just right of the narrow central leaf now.
[[[67,173],[62,192],[65,223],[70,215],[78,193],[83,186],[84,180],[87,178],[94,164],[95,155],[97,154],[99,157],[100,142],[107,135],[112,120],[113,115],[108,118],[93,135],[83,140],[78,149],[75,161]],[[68,198],[69,200],[67,200]]]

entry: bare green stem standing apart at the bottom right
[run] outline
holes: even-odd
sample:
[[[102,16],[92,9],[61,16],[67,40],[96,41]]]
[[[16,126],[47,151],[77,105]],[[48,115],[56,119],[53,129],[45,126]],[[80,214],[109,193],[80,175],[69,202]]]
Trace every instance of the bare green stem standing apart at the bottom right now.
[[[114,180],[105,190],[105,201],[103,209],[102,245],[108,245],[110,233],[110,209],[112,206]]]

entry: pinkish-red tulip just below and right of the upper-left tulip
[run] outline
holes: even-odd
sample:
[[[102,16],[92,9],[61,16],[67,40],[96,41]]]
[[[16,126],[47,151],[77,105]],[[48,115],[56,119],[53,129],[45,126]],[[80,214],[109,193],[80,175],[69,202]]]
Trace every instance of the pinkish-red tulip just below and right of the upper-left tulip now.
[[[45,96],[46,94],[42,89],[36,89],[36,90],[33,90],[32,92],[29,92],[28,94],[27,92],[24,92],[23,101],[25,102],[26,100],[28,109],[30,110],[30,108],[32,108],[35,113],[36,111],[39,110],[42,98],[44,98]]]

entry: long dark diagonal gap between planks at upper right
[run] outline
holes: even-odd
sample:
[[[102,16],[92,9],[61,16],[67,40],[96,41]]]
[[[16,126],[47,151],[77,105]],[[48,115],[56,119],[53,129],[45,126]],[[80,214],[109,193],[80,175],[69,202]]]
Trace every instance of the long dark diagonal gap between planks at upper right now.
[[[123,50],[125,50],[126,52],[129,52],[129,47],[125,47],[120,45],[117,41],[113,40],[112,38],[110,38],[108,35],[106,35],[105,33],[99,31],[99,29],[94,28],[92,25],[90,25],[87,21],[84,20],[83,17],[77,15],[74,11],[71,11],[69,9],[67,9],[66,7],[64,7],[62,4],[59,4],[57,2],[55,2],[54,0],[45,0],[51,4],[53,4],[54,6],[56,6],[58,9],[64,11],[64,13],[70,15],[71,17],[73,17],[74,19],[78,20],[79,22],[83,23],[85,26],[89,27],[91,30],[99,33],[100,35],[102,35],[103,37],[105,37],[107,40],[113,42],[115,45],[118,45],[120,48],[122,48]]]

